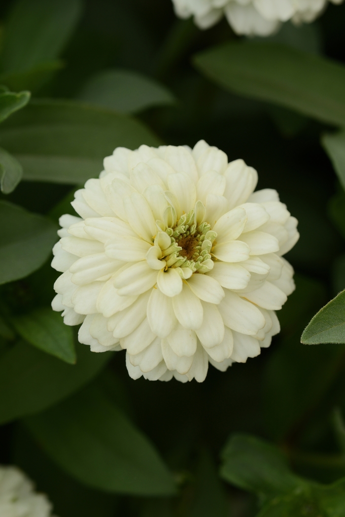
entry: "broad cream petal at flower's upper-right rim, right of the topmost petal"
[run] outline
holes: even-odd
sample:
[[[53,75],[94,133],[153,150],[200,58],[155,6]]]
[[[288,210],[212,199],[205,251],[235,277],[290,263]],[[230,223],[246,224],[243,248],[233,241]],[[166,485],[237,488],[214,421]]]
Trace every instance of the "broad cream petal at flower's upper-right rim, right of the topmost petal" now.
[[[229,163],[224,176],[227,180],[224,196],[229,201],[229,209],[245,203],[258,183],[257,171],[243,160]]]

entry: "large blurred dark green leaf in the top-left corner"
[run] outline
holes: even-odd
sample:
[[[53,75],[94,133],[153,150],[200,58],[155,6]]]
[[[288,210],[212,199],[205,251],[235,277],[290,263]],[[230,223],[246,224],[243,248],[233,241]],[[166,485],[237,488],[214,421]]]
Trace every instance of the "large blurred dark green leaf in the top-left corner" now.
[[[80,0],[19,0],[6,24],[3,69],[21,71],[54,60],[81,14]]]

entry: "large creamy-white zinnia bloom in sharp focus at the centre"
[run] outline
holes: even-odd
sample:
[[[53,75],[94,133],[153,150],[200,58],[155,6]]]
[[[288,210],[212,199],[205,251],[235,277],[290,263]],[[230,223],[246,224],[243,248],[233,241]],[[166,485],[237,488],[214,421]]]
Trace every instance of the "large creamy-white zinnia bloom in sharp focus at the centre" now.
[[[204,380],[260,354],[294,290],[281,258],[297,220],[257,172],[201,140],[115,149],[64,215],[52,302],[93,352],[127,350],[132,378]]]

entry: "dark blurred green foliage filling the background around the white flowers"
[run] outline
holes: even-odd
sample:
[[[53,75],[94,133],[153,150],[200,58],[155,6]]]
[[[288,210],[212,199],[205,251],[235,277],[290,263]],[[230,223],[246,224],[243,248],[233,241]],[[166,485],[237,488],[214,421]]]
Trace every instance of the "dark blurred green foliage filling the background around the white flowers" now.
[[[59,517],[345,515],[345,339],[301,344],[345,288],[345,4],[264,42],[170,0],[3,0],[0,20],[0,463]],[[297,288],[256,359],[133,381],[50,309],[58,217],[115,147],[200,139],[298,218]]]

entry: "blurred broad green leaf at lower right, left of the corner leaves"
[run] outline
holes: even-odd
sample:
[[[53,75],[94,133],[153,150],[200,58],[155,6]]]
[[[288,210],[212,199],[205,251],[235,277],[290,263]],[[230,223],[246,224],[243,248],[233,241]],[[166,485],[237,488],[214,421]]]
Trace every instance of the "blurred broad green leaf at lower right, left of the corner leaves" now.
[[[221,477],[258,495],[289,493],[303,484],[279,449],[255,436],[233,435],[222,451]]]

